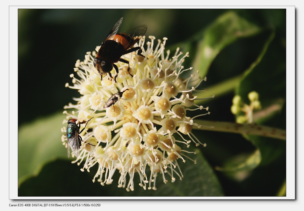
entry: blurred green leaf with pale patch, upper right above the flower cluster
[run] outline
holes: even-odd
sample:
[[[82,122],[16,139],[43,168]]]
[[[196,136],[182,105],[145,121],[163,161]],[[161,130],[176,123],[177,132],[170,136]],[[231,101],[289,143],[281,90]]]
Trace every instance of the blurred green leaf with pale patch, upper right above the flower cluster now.
[[[237,39],[253,36],[259,32],[261,29],[258,26],[230,11],[219,16],[209,27],[188,42],[178,45],[181,49],[191,52],[191,57],[196,51],[191,66],[194,71],[199,70],[199,75],[203,78],[221,50]]]

